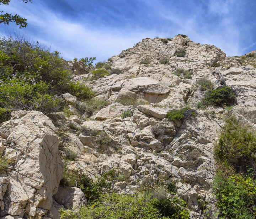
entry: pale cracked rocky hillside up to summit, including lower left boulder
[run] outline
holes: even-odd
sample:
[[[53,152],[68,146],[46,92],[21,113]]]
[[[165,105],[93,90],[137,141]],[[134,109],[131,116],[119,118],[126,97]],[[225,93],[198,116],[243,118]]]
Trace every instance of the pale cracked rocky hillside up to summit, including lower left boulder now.
[[[24,109],[1,123],[0,155],[9,165],[0,174],[0,218],[59,219],[91,198],[76,177],[92,184],[110,173],[102,194],[134,194],[145,182],[169,179],[190,218],[206,218],[205,209],[213,217],[213,149],[225,119],[256,125],[256,59],[250,54],[226,57],[214,45],[179,34],[142,39],[102,66],[64,60],[72,80],[95,95],[90,101],[59,95],[66,107],[55,119]],[[206,100],[224,88],[230,100]]]

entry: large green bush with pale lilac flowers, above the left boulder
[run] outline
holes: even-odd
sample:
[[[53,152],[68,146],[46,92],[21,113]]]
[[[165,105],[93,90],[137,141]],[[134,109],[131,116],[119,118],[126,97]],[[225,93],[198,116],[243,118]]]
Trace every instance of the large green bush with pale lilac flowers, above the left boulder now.
[[[52,115],[63,104],[56,95],[69,92],[80,100],[94,92],[73,82],[60,53],[22,37],[0,38],[0,120],[14,110],[37,110]]]

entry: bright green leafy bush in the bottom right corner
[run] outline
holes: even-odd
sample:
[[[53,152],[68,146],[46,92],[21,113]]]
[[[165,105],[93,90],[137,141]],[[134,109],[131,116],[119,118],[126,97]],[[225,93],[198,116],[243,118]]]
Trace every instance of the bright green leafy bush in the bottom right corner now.
[[[256,217],[256,181],[238,173],[225,176],[219,170],[213,182],[220,219]]]

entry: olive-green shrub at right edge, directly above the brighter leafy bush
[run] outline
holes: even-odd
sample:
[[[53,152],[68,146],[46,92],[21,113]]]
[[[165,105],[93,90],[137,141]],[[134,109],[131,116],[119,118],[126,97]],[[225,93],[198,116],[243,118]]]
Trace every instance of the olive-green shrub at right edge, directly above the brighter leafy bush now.
[[[255,130],[241,124],[236,118],[226,119],[219,135],[218,144],[214,146],[214,153],[219,159],[237,159],[256,161]]]

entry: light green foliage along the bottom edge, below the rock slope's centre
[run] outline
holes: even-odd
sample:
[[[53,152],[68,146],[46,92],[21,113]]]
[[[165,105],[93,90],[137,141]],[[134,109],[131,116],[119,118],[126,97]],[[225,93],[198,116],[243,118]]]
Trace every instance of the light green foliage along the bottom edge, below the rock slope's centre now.
[[[60,213],[61,219],[188,219],[189,214],[181,199],[158,201],[150,196],[135,194],[102,194],[97,201],[83,206],[78,213],[68,210]],[[169,201],[167,201],[169,200]],[[162,214],[161,214],[162,212]],[[164,216],[166,214],[166,216]],[[168,217],[168,216],[169,217]]]

